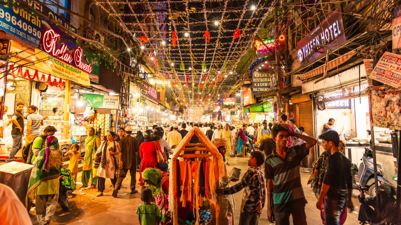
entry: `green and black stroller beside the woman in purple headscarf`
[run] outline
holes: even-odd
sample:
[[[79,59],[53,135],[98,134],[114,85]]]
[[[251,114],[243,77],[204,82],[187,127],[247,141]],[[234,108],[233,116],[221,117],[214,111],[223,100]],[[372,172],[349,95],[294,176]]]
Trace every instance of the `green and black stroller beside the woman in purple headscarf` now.
[[[67,196],[71,195],[75,190],[75,182],[74,178],[71,176],[71,172],[69,169],[61,168],[60,176],[64,175],[63,178],[60,178],[60,187],[59,187],[59,204],[64,211],[68,211],[68,198]]]

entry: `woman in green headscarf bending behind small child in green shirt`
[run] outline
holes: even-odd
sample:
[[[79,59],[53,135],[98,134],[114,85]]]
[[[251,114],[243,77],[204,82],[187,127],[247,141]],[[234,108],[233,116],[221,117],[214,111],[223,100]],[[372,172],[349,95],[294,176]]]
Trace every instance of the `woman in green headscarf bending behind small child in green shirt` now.
[[[170,173],[154,168],[148,168],[142,172],[142,181],[147,183],[148,188],[152,190],[156,205],[162,213],[162,224],[170,221],[170,217],[167,215],[169,176]]]

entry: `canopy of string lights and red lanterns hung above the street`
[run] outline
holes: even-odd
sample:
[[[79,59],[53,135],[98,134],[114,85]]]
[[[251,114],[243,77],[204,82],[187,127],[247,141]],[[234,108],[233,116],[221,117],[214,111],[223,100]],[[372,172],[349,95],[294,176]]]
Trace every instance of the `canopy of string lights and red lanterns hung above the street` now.
[[[238,80],[235,68],[276,1],[98,0],[145,52],[160,60],[156,75],[170,80],[178,104],[218,100]],[[124,10],[115,10],[122,5]],[[260,35],[270,36],[269,34]],[[133,46],[134,47],[134,46]],[[146,54],[148,55],[148,54]]]

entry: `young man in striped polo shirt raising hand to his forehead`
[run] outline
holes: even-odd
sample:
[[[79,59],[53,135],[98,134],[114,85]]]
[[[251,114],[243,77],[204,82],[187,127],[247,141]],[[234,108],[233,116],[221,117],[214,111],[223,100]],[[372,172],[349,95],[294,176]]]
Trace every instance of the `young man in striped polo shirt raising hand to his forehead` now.
[[[317,141],[311,137],[290,131],[282,125],[273,127],[273,140],[276,149],[265,160],[265,178],[267,180],[267,219],[276,225],[290,225],[290,215],[296,225],[306,225],[306,199],[302,189],[300,167],[301,161],[309,154],[309,149]],[[303,145],[288,147],[290,136],[306,141]],[[273,188],[274,187],[274,188]]]

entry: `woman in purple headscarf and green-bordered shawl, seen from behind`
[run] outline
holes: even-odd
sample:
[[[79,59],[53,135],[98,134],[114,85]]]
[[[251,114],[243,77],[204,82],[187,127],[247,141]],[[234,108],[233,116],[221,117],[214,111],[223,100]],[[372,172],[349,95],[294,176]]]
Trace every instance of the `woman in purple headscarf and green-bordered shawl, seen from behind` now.
[[[59,149],[59,140],[55,136],[46,139],[46,148],[43,148],[32,168],[28,196],[33,195],[36,189],[36,217],[40,225],[49,224],[57,207],[59,199],[60,173],[63,167],[63,152]]]

